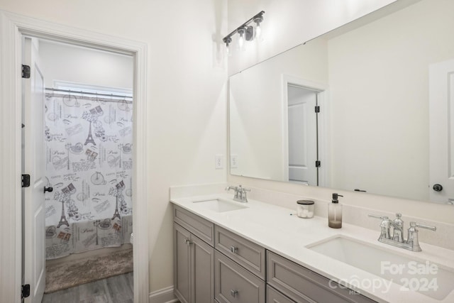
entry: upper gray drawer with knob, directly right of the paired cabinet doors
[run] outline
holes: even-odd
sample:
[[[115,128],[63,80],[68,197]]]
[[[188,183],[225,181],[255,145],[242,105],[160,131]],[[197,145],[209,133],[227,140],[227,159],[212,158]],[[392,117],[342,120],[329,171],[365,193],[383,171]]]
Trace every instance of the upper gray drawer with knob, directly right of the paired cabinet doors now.
[[[262,246],[216,226],[214,247],[265,280],[265,248]]]

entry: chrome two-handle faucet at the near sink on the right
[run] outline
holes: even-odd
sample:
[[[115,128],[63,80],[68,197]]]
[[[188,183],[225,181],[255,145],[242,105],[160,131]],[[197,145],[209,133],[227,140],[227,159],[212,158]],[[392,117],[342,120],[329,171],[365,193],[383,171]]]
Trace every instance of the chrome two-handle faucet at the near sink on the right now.
[[[430,229],[431,231],[437,230],[436,226],[418,224],[414,221],[411,221],[408,230],[408,237],[405,241],[403,236],[404,221],[402,221],[401,219],[402,214],[397,213],[396,219],[394,219],[393,221],[391,221],[387,216],[377,216],[375,214],[370,214],[369,216],[382,220],[382,223],[380,224],[381,232],[378,241],[411,251],[421,251],[421,246],[419,246],[418,230],[416,229],[416,227]],[[392,237],[390,236],[391,233],[389,233],[390,227],[393,228]]]

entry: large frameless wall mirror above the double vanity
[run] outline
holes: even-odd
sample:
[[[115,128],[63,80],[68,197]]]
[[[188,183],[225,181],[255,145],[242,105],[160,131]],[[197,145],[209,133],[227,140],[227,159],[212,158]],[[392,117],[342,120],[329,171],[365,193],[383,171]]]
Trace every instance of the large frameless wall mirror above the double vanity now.
[[[419,1],[232,75],[231,174],[452,204],[453,11]]]

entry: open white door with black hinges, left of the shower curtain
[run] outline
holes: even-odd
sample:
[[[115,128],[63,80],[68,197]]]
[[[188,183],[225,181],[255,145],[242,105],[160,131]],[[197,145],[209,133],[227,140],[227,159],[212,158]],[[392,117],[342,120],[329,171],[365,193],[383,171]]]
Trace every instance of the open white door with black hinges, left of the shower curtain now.
[[[44,167],[44,79],[38,67],[38,50],[31,38],[23,40],[23,65],[31,67],[22,80],[24,126],[24,174],[30,187],[23,189],[23,280],[30,285],[25,302],[39,303],[45,287],[45,167]]]

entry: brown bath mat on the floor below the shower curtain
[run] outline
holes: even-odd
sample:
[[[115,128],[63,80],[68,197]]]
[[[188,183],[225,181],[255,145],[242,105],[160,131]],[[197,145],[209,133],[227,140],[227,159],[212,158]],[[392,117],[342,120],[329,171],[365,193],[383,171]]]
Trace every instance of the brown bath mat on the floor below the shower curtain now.
[[[45,293],[133,271],[133,249],[46,266]]]

